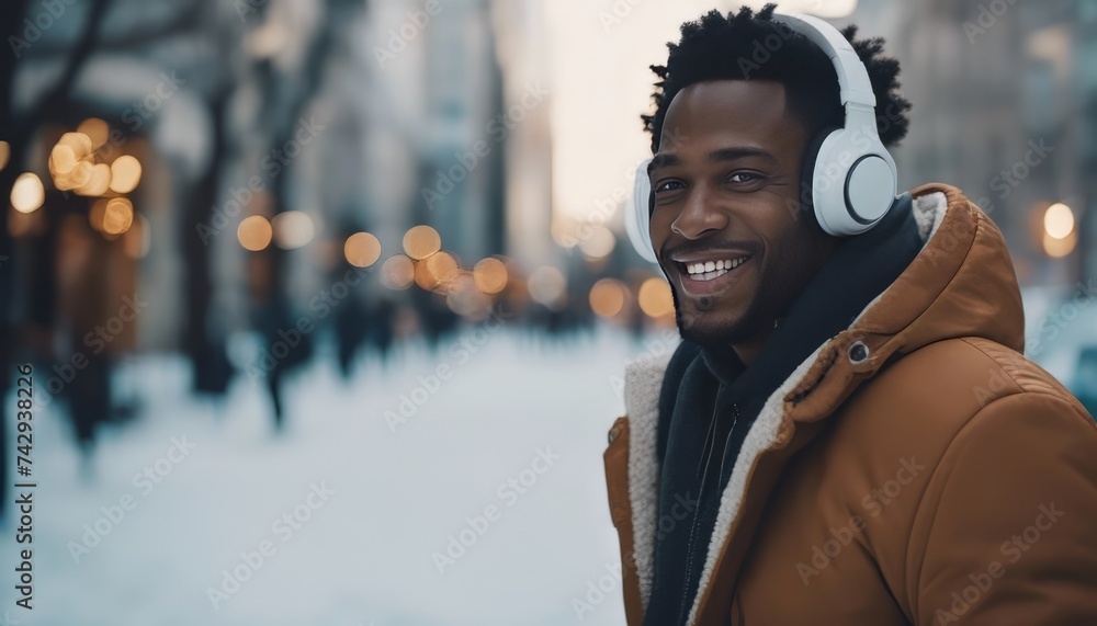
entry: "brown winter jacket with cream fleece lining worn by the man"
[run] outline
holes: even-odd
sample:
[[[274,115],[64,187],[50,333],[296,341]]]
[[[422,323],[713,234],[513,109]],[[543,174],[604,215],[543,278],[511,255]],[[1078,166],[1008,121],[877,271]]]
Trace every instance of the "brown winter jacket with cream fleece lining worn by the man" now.
[[[751,425],[690,624],[1097,625],[1097,428],[1021,355],[997,227],[957,189],[912,195],[921,252]],[[631,626],[652,590],[665,368],[629,366],[604,455]]]

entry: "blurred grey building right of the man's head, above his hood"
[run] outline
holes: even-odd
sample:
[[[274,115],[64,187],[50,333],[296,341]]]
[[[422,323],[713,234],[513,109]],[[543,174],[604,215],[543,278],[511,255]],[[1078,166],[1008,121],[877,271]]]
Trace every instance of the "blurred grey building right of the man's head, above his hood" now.
[[[1002,228],[1022,285],[1097,275],[1097,4],[861,0],[838,23],[884,37],[902,64],[914,103],[895,151],[903,189],[963,190]],[[1049,239],[1055,203],[1076,224]]]

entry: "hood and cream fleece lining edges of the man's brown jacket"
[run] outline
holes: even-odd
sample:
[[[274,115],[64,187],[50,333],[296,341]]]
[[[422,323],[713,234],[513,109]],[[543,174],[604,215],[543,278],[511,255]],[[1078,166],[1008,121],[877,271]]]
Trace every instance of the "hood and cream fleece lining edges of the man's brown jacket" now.
[[[1020,289],[1002,232],[952,186],[924,185],[911,193],[920,252],[848,329],[815,349],[767,399],[722,494],[690,624],[712,593],[713,577],[734,577],[724,574],[734,568],[717,565],[724,558],[742,558],[725,554],[725,544],[739,521],[747,481],[761,452],[790,443],[802,446],[805,436],[793,442],[798,428],[814,432],[805,426],[835,412],[861,382],[927,344],[979,337],[1024,352]],[[664,358],[634,363],[625,371],[629,500],[636,580],[645,606],[654,576],[658,398],[666,365]]]

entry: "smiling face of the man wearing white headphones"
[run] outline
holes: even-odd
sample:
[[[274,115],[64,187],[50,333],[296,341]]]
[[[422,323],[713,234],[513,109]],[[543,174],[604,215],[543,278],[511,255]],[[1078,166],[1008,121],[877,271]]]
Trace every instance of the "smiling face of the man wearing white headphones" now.
[[[764,342],[837,243],[801,210],[807,129],[784,86],[743,80],[681,90],[663,128],[651,234],[679,331]]]

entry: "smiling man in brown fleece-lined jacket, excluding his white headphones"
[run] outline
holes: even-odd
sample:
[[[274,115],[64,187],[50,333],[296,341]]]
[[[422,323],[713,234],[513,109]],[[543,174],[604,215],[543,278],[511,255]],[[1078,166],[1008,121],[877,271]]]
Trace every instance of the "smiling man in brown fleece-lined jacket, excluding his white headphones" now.
[[[1097,428],[1022,356],[1000,232],[941,184],[822,228],[839,83],[773,9],[688,23],[653,67],[682,342],[630,366],[606,452],[629,624],[1097,624]],[[898,65],[842,34],[892,145]]]

